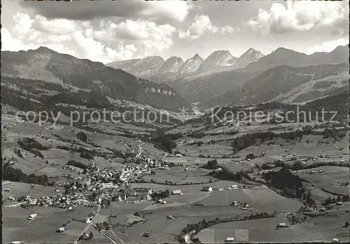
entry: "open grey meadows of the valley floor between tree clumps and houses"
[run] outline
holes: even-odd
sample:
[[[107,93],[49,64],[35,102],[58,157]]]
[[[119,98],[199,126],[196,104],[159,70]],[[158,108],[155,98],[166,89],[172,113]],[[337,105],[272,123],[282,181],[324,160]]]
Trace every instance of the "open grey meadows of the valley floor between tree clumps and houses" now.
[[[259,182],[252,182],[248,178],[240,182],[218,180],[209,175],[212,170],[200,168],[200,166],[207,164],[209,160],[216,158],[218,167],[225,167],[231,172],[253,169],[253,173],[250,173],[250,175],[261,178],[262,173],[277,172],[283,166],[262,170],[260,167],[255,167],[255,165],[262,166],[262,164],[274,163],[280,159],[286,164],[293,164],[299,159],[304,162],[304,165],[317,162],[339,163],[343,160],[347,162],[349,160],[347,147],[349,136],[335,140],[334,138],[323,138],[323,136],[304,135],[301,140],[275,138],[262,143],[256,141],[255,144],[233,155],[232,141],[238,136],[257,131],[269,131],[269,129],[276,133],[295,131],[301,128],[300,124],[284,124],[283,126],[286,128],[280,128],[271,124],[259,124],[258,122],[252,122],[248,126],[245,122],[239,127],[232,127],[230,124],[216,127],[216,125],[211,124],[209,129],[205,129],[208,125],[204,126],[204,123],[183,124],[167,131],[167,133],[204,129],[207,134],[202,138],[185,136],[175,140],[176,147],[172,149],[171,153],[175,154],[177,153],[176,150],[179,150],[183,156],[162,157],[162,161],[163,163],[174,163],[176,166],[148,168],[144,173],[141,173],[142,180],[146,182],[155,180],[155,183],[136,183],[139,182],[134,181],[136,176],[127,179],[127,183],[125,183],[120,180],[118,174],[113,180],[108,180],[109,172],[122,171],[123,168],[127,168],[127,170],[132,168],[132,171],[138,171],[139,168],[136,167],[140,164],[145,166],[146,163],[144,162],[148,162],[148,157],[160,161],[161,157],[159,156],[165,154],[165,151],[155,148],[157,144],[153,141],[152,136],[148,135],[149,131],[156,128],[142,128],[131,124],[118,124],[115,127],[111,124],[89,124],[97,131],[102,129],[104,132],[116,133],[116,136],[109,136],[98,133],[94,129],[85,131],[62,124],[57,124],[54,127],[50,127],[50,124],[43,124],[40,127],[39,124],[32,122],[15,122],[12,115],[2,115],[2,119],[2,122],[7,124],[6,128],[3,128],[3,146],[1,148],[3,162],[14,162],[11,163],[13,168],[18,168],[28,175],[31,173],[36,175],[45,174],[50,182],[55,181],[57,184],[76,182],[78,180],[75,178],[79,175],[87,181],[94,182],[93,184],[96,184],[97,187],[105,182],[113,182],[113,184],[118,185],[117,189],[79,189],[79,192],[83,192],[85,196],[95,192],[96,196],[106,198],[106,206],[99,211],[93,221],[94,224],[111,222],[113,228],[104,233],[118,244],[179,243],[177,238],[181,231],[188,227],[188,224],[197,224],[203,220],[208,221],[217,218],[246,217],[257,213],[274,214],[275,217],[216,224],[207,229],[202,229],[195,237],[200,238],[202,243],[223,243],[228,237],[234,237],[237,242],[257,243],[330,242],[332,238],[339,238],[342,242],[349,241],[349,228],[344,227],[345,222],[349,221],[349,203],[344,203],[344,206],[332,204],[330,206],[332,209],[328,210],[327,213],[320,214],[319,210],[310,210],[313,211],[311,214],[317,216],[307,217],[307,221],[302,224],[290,224],[287,217],[288,213],[298,212],[301,207],[306,207],[304,199],[297,200],[281,196],[281,194],[267,187],[270,182],[262,182],[259,185]],[[289,128],[287,129],[287,127]],[[170,128],[170,126],[167,128]],[[235,135],[220,134],[232,129],[239,129],[239,132]],[[139,134],[139,137],[127,138],[120,136],[120,134],[125,133],[125,130],[133,134]],[[148,134],[145,136],[146,130],[148,130]],[[80,131],[86,134],[87,143],[77,138],[76,134]],[[43,159],[35,157],[33,153],[20,148],[18,139],[29,136],[35,138],[38,143],[50,147],[49,150],[41,150]],[[67,142],[61,141],[59,138],[63,138]],[[188,145],[187,143],[194,144]],[[135,151],[141,148],[142,154],[139,157],[143,160],[139,162],[129,160],[130,158],[125,160],[123,157],[97,156],[89,160],[80,157],[78,152],[72,152],[69,149],[57,149],[58,145],[65,145],[69,148],[83,147],[99,150],[100,152],[111,152],[107,148],[116,148],[122,152]],[[16,155],[15,148],[20,149],[22,158]],[[170,154],[170,152],[167,153]],[[255,158],[248,160],[246,158],[248,154],[253,154]],[[98,170],[91,166],[91,172],[85,175],[85,173],[64,168],[69,159],[86,166],[94,162]],[[321,169],[324,172],[320,173]],[[102,171],[104,173],[101,175]],[[148,174],[147,171],[153,171],[155,174]],[[308,171],[316,171],[317,173],[308,174]],[[292,173],[299,175],[304,180],[302,182],[303,187],[310,191],[318,209],[322,207],[321,203],[328,197],[332,198],[336,197],[336,194],[349,193],[349,186],[340,185],[349,182],[349,168],[322,166],[308,170],[292,171]],[[94,180],[92,180],[93,177]],[[225,178],[236,179],[237,177],[233,178],[232,175],[225,175]],[[116,196],[125,194],[123,192],[125,185],[151,188],[153,192],[163,192],[167,189],[169,192],[180,190],[181,194],[170,194],[169,197],[163,199],[166,201],[164,204],[156,203],[156,198],[150,201],[141,201],[141,203],[124,202],[123,200],[117,202]],[[232,185],[239,185],[239,189],[228,189]],[[203,190],[204,186],[213,187],[214,191],[205,192]],[[34,206],[34,208],[28,210],[21,208],[20,203],[7,199],[10,196],[40,198],[41,196],[63,194],[64,187],[34,185],[32,188],[30,184],[9,181],[4,181],[2,187],[6,189],[6,191],[3,191],[2,206],[3,242],[45,243],[59,240],[61,243],[73,243],[84,229],[88,233],[91,231],[94,237],[89,241],[79,241],[79,243],[111,242],[94,227],[86,223],[73,221],[73,219],[85,219],[87,215],[97,211],[96,207],[76,206],[73,207],[74,211],[69,211],[67,208]],[[59,191],[56,192],[55,189]],[[115,197],[113,198],[113,196]],[[128,197],[127,200],[133,199],[133,196]],[[98,197],[95,199],[96,204],[98,204],[97,199]],[[108,202],[110,200],[111,205],[109,206]],[[232,206],[234,201],[238,202],[237,206]],[[249,208],[242,209],[241,203],[247,203]],[[105,203],[102,205],[105,205]],[[26,218],[31,213],[37,213],[38,217],[32,222],[27,222]],[[302,215],[302,213],[297,214]],[[286,222],[290,226],[288,229],[276,229],[276,224],[280,222]],[[66,230],[62,234],[57,234],[55,231],[62,224],[66,224]],[[149,236],[144,236],[144,233],[148,233]]]

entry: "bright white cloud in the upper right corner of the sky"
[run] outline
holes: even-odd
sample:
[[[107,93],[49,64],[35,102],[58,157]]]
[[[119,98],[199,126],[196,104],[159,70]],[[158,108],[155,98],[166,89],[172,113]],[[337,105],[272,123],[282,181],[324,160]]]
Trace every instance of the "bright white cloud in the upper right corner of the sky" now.
[[[269,10],[259,9],[258,15],[246,22],[254,30],[283,34],[292,31],[310,31],[318,27],[334,31],[347,29],[349,1],[286,1],[273,3]]]

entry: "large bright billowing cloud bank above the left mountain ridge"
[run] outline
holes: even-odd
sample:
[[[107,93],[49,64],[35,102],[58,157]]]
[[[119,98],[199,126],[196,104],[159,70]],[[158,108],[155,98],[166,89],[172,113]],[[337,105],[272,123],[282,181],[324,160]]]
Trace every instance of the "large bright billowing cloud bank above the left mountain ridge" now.
[[[112,62],[159,55],[174,45],[176,28],[145,20],[50,20],[25,13],[13,16],[13,29],[1,29],[2,50],[29,50],[43,45],[92,61]]]

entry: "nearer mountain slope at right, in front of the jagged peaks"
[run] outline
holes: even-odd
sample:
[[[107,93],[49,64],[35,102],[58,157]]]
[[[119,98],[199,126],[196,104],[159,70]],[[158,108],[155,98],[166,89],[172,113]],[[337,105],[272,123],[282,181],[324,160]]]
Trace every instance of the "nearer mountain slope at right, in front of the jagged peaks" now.
[[[276,66],[214,96],[203,106],[258,104],[269,101],[300,103],[349,90],[349,63],[317,66]]]

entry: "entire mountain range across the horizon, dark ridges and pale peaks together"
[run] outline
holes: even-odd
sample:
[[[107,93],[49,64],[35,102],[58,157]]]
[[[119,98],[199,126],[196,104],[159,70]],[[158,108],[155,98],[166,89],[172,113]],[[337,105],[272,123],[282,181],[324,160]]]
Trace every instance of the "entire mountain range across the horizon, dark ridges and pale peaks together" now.
[[[349,47],[306,55],[278,48],[263,55],[253,48],[240,57],[228,50],[160,56],[102,64],[48,48],[1,51],[1,76],[44,80],[110,99],[179,111],[267,101],[300,103],[349,89]],[[85,95],[84,95],[85,96]]]

